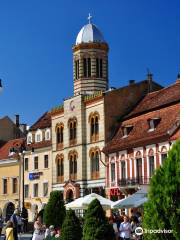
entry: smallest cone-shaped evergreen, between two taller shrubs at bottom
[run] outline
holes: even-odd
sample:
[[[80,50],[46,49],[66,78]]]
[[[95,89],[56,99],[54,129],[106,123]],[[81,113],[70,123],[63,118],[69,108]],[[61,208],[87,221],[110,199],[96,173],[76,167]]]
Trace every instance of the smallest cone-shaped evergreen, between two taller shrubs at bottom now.
[[[73,210],[66,212],[62,225],[61,240],[81,240],[82,228],[80,221]]]

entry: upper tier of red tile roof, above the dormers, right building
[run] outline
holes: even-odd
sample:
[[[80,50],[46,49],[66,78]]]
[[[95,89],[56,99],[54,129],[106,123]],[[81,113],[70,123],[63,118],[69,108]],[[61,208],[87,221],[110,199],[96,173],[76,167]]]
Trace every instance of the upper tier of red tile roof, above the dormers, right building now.
[[[180,81],[177,81],[169,87],[146,95],[126,119],[176,102],[180,102]]]

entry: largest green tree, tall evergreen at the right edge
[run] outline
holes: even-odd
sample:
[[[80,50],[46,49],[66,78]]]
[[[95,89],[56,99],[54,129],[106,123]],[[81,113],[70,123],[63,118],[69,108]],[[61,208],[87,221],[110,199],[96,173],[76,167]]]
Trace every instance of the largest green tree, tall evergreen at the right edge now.
[[[147,240],[180,239],[180,140],[173,144],[163,166],[151,179],[143,228],[173,230],[172,234],[144,234]]]

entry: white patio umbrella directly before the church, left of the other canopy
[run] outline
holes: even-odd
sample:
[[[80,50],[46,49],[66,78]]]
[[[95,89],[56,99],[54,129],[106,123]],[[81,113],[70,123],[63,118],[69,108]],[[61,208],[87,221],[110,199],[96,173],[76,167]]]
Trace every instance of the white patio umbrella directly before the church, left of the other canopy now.
[[[91,193],[81,198],[77,198],[71,203],[65,205],[66,209],[87,209],[88,205],[94,200],[98,199],[104,210],[110,209],[113,202],[107,198],[104,198],[96,193]]]

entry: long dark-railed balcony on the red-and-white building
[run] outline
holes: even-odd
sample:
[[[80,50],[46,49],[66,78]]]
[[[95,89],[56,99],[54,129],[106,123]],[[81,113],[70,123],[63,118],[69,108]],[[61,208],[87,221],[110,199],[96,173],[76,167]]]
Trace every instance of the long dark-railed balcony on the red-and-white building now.
[[[136,177],[136,178],[124,178],[119,179],[118,185],[120,188],[135,188],[139,185],[149,184],[151,178],[147,177]]]

